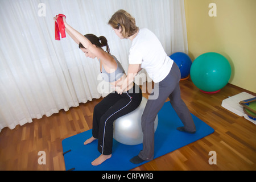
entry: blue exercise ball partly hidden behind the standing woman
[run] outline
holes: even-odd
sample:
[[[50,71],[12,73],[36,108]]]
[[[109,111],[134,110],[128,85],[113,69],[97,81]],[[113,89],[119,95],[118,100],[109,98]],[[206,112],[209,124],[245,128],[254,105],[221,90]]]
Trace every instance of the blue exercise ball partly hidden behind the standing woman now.
[[[192,64],[190,57],[184,52],[175,52],[170,56],[170,58],[174,60],[180,68],[181,78],[188,77]]]

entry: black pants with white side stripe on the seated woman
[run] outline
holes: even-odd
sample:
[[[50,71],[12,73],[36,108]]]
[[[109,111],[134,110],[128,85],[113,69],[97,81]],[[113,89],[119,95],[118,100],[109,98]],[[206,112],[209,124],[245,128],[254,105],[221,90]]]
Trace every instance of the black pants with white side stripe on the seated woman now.
[[[101,154],[112,154],[115,119],[135,110],[141,104],[141,100],[141,89],[134,84],[133,88],[121,95],[117,92],[108,94],[94,107],[92,134],[98,139],[98,151]]]

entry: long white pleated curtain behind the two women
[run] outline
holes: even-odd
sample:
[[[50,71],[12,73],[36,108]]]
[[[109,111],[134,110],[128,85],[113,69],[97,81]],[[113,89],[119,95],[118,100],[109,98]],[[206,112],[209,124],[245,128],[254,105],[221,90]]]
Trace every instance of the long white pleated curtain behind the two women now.
[[[52,18],[65,14],[81,34],[105,36],[127,72],[131,42],[108,25],[119,9],[153,31],[168,55],[188,52],[183,0],[0,0],[0,131],[107,94],[98,61],[68,35],[55,40]]]

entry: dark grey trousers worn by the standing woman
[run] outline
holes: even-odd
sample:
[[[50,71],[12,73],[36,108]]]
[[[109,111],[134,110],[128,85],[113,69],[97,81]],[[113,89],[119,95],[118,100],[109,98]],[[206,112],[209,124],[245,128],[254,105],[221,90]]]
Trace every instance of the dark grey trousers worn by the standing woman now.
[[[167,98],[170,98],[171,105],[181,119],[185,130],[196,131],[195,123],[193,122],[188,107],[181,99],[179,81],[180,69],[177,67],[177,64],[174,63],[166,78],[154,86],[154,92],[159,92],[158,98],[151,99],[151,97],[154,97],[152,95],[153,93],[148,97],[141,123],[143,150],[139,152],[139,157],[143,160],[154,159],[154,121]]]

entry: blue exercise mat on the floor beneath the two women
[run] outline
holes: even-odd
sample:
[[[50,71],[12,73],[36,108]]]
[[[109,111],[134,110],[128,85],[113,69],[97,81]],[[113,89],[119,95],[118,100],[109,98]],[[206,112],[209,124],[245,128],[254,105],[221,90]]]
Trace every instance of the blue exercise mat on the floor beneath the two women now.
[[[155,131],[155,157],[172,152],[177,148],[186,146],[214,132],[212,127],[191,114],[196,125],[196,133],[188,134],[176,128],[183,126],[170,102],[164,103],[158,113],[158,128]],[[139,154],[142,144],[128,146],[113,140],[112,158],[99,166],[92,166],[91,162],[100,156],[97,150],[98,140],[84,145],[84,141],[92,137],[92,130],[66,138],[62,141],[66,170],[86,171],[127,171],[141,164],[133,164],[129,160]],[[67,152],[69,151],[69,152]],[[66,152],[66,153],[65,153]]]

